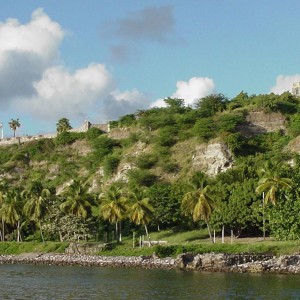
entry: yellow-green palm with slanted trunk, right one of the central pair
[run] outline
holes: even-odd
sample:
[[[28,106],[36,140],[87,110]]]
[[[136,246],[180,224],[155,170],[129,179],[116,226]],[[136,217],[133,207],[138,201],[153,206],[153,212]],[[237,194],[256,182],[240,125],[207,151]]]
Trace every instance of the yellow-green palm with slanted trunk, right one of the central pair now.
[[[128,194],[130,206],[128,207],[128,217],[136,225],[144,225],[147,239],[150,242],[147,224],[153,218],[154,208],[149,203],[147,190],[136,188]]]

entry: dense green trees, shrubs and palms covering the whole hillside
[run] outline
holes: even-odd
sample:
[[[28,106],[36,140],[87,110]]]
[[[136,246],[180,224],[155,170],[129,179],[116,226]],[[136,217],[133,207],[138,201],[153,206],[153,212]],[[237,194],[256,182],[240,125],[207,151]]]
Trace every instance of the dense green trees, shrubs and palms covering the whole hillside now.
[[[241,92],[194,108],[165,102],[112,121],[111,134],[69,132],[63,118],[54,139],[1,147],[1,240],[112,241],[199,227],[299,239],[300,160],[286,147],[300,134],[299,99]],[[286,129],[244,135],[252,111],[281,113]],[[118,130],[126,137],[113,138]],[[234,166],[208,177],[191,160],[212,140],[228,146]]]

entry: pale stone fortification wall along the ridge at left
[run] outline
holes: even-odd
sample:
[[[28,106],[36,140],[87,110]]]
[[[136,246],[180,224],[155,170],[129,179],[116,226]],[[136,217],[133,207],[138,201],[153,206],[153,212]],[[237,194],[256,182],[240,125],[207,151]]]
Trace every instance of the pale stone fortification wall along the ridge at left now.
[[[80,127],[73,128],[70,130],[70,132],[86,132],[90,128],[95,127],[100,130],[102,130],[105,133],[110,132],[109,124],[92,124],[89,121],[85,121]],[[22,144],[27,143],[35,140],[41,140],[41,139],[53,139],[57,137],[57,132],[55,133],[48,133],[48,134],[38,134],[38,135],[25,135],[25,136],[18,136],[18,137],[12,137],[12,138],[1,138],[0,139],[0,146],[8,146],[13,144]]]

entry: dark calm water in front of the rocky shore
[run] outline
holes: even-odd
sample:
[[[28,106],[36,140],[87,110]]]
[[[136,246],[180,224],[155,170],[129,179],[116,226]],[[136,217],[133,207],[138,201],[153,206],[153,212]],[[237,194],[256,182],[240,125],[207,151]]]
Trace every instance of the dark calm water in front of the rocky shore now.
[[[300,299],[300,276],[0,265],[0,299]]]

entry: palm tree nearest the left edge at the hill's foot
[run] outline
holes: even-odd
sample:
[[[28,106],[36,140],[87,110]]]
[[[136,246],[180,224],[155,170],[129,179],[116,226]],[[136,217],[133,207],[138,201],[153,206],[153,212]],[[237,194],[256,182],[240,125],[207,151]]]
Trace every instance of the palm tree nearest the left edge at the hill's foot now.
[[[21,241],[20,222],[23,215],[21,193],[18,190],[9,190],[4,195],[4,202],[0,209],[3,221],[17,227],[17,242]]]

